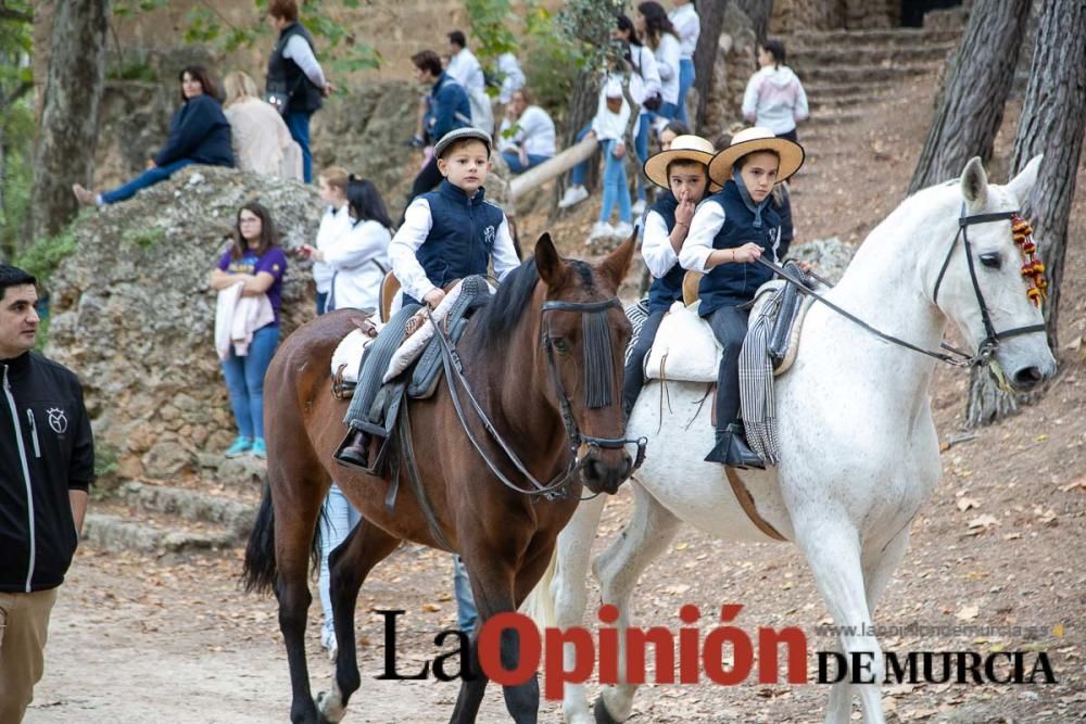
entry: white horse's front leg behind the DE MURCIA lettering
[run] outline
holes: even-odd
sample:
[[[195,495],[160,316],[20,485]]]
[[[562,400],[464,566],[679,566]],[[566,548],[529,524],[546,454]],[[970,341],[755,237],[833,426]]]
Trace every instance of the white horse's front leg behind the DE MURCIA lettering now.
[[[873,635],[859,534],[847,521],[828,520],[828,517],[815,513],[808,508],[803,516],[794,518],[796,543],[807,556],[815,583],[837,627],[841,650],[848,666],[846,679],[851,681],[856,675],[858,681],[867,682],[835,686],[830,696],[825,722],[850,722],[851,693],[855,691],[860,695],[867,724],[885,724],[880,693],[884,661],[882,648]],[[863,669],[854,670],[854,660]]]

